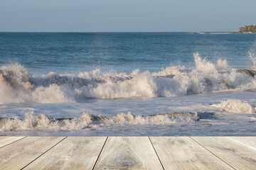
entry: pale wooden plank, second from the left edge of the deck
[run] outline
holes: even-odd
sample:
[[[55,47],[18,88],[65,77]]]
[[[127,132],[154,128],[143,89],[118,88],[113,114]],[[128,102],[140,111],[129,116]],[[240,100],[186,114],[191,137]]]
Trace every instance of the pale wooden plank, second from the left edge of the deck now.
[[[22,169],[65,137],[26,137],[0,149],[1,169]]]

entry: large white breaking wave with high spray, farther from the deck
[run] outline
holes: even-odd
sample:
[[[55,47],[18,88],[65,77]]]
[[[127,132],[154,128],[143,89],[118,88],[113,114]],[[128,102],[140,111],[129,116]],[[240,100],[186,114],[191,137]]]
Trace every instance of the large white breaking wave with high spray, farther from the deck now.
[[[251,58],[255,57],[250,53]],[[21,65],[0,69],[0,103],[82,103],[87,98],[186,96],[221,91],[255,91],[256,71],[233,69],[226,60],[209,62],[194,54],[195,69],[166,67],[160,72],[131,74],[92,72],[34,77]]]

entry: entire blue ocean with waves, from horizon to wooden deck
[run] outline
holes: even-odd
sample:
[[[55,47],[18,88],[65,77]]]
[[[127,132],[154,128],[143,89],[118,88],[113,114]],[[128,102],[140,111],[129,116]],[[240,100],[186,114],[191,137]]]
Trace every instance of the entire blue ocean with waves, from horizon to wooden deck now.
[[[0,33],[0,135],[256,135],[256,34]]]

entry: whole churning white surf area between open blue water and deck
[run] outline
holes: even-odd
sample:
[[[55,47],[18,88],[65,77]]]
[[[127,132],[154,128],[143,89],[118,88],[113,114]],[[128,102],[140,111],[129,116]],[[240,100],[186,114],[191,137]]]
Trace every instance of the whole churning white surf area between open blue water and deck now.
[[[95,135],[92,130],[96,130],[99,135],[110,131],[117,135],[119,130],[132,128],[132,135],[159,135],[154,130],[151,134],[151,128],[158,125],[164,131],[161,135],[175,135],[177,132],[173,131],[183,127],[189,130],[178,134],[186,135],[197,126],[206,125],[213,131],[220,125],[231,124],[231,120],[239,123],[240,118],[254,124],[255,70],[233,69],[221,59],[212,63],[198,53],[193,57],[195,69],[181,66],[166,67],[160,72],[136,69],[131,74],[95,69],[78,75],[50,72],[34,77],[21,65],[3,66],[0,131]],[[253,59],[255,55],[250,53],[250,57]],[[233,99],[241,96],[241,100]],[[142,132],[134,130],[137,126]],[[171,133],[165,131],[167,127],[171,127]],[[243,130],[237,133],[241,135]],[[223,134],[215,131],[210,135]]]

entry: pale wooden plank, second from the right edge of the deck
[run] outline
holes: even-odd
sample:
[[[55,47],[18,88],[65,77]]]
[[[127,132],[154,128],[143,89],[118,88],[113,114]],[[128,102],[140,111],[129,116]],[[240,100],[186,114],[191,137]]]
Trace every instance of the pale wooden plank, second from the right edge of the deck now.
[[[235,169],[256,169],[256,148],[231,137],[192,137]]]

